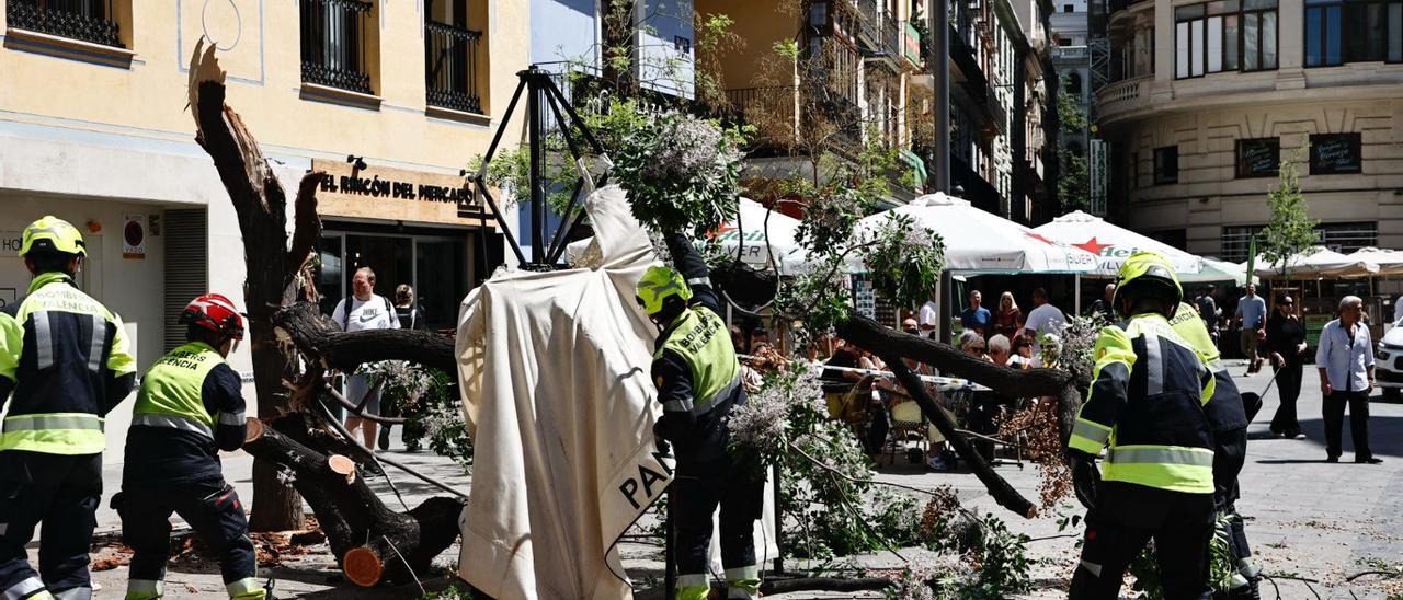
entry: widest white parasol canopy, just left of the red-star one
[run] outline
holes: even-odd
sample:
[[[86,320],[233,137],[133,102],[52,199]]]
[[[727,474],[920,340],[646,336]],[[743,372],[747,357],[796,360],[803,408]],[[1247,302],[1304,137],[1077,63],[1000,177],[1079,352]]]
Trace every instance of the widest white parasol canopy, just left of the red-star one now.
[[[857,231],[873,231],[885,223],[888,213],[915,217],[916,223],[944,238],[948,271],[1085,273],[1096,269],[1096,257],[1082,248],[1058,244],[1028,227],[939,192],[866,217],[857,223]]]

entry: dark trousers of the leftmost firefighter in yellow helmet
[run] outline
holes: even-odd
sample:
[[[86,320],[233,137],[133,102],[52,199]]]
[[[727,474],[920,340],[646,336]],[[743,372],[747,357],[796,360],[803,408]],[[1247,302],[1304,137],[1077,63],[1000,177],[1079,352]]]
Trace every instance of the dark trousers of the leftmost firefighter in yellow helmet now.
[[[0,451],[0,593],[27,597],[48,589],[88,599],[88,544],[102,496],[102,454]],[[43,523],[39,572],[24,547]]]

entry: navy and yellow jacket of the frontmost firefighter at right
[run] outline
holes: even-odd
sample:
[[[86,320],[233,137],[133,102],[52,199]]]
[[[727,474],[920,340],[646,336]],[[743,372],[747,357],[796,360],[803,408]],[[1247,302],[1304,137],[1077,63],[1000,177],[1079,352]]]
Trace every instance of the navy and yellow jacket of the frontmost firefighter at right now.
[[[1145,313],[1101,329],[1092,388],[1068,446],[1097,454],[1101,478],[1214,493],[1208,366],[1169,321]]]

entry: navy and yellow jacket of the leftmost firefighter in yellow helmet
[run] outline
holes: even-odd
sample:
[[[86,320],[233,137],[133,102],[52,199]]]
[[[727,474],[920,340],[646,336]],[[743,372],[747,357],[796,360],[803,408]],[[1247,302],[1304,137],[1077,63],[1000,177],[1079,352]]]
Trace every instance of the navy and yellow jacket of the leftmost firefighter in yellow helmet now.
[[[14,391],[0,450],[101,453],[102,418],[135,380],[122,320],[73,278],[42,273],[0,310],[0,404]]]

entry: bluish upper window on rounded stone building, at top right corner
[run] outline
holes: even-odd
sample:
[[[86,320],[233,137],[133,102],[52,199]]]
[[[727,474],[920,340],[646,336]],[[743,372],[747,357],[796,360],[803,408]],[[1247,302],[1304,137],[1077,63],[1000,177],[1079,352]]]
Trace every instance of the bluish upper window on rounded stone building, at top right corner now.
[[[1306,66],[1403,62],[1403,0],[1306,0]]]

